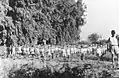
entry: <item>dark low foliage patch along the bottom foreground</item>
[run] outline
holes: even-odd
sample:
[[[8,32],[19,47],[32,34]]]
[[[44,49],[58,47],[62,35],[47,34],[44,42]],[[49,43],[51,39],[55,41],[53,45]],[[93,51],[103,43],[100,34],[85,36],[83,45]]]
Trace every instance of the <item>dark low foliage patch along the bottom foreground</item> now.
[[[68,64],[63,64],[59,65],[60,69],[57,70],[50,65],[42,69],[24,65],[20,69],[11,70],[8,76],[9,78],[113,78],[110,72],[106,70],[96,72],[92,66],[84,64],[82,67],[70,68]]]

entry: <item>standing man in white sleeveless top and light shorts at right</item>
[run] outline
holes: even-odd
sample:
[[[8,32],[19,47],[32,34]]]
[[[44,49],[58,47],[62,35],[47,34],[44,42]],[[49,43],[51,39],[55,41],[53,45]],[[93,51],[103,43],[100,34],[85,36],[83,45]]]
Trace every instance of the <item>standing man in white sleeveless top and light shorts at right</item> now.
[[[116,35],[115,35],[115,30],[111,31],[111,37],[109,37],[109,39],[108,39],[108,49],[112,53],[112,64],[115,67],[115,65],[114,65],[115,56],[117,56],[117,59],[118,59],[118,53],[119,53],[118,41],[117,41],[117,38],[116,38]]]

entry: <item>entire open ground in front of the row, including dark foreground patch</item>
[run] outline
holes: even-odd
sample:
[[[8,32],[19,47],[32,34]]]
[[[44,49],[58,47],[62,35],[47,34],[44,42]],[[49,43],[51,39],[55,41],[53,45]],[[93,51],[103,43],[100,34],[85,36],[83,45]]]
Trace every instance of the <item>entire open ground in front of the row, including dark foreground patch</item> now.
[[[36,58],[1,58],[0,78],[116,78],[119,71],[107,61],[73,59],[69,62]]]

